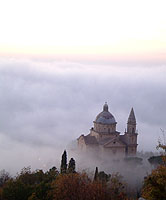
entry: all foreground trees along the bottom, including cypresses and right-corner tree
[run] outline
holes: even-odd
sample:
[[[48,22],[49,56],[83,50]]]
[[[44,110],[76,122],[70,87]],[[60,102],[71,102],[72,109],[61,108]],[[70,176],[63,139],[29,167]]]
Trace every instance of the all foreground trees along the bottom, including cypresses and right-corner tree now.
[[[134,157],[127,162],[141,159]],[[67,163],[67,153],[62,155],[60,170],[52,167],[46,172],[24,168],[15,177],[5,170],[0,174],[0,200],[134,200],[138,199],[119,174],[106,174],[96,167],[93,178],[76,172],[73,158]],[[166,199],[166,165],[162,163],[145,178],[142,196],[148,200]]]

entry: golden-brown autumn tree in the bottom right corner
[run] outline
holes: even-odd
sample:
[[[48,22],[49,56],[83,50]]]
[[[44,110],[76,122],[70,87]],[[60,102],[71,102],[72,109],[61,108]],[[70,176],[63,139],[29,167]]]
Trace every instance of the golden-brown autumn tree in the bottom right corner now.
[[[148,200],[166,199],[166,166],[158,166],[145,178],[142,196]]]

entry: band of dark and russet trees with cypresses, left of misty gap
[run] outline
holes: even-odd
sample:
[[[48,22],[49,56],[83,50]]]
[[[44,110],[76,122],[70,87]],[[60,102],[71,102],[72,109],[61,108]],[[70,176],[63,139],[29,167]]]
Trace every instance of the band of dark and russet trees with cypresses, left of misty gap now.
[[[23,168],[16,177],[1,173],[0,200],[125,200],[124,184],[119,175],[98,172],[94,180],[87,174],[76,173],[75,160],[64,151],[61,173],[56,167],[47,172]]]

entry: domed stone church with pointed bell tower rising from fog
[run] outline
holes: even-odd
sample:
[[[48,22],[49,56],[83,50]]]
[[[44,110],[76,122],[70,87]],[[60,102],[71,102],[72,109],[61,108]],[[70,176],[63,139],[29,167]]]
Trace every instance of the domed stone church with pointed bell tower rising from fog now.
[[[105,103],[103,111],[95,119],[94,127],[88,135],[77,139],[78,148],[82,152],[95,152],[101,156],[134,156],[137,153],[136,118],[133,108],[128,117],[127,130],[121,135],[116,130],[116,120]]]

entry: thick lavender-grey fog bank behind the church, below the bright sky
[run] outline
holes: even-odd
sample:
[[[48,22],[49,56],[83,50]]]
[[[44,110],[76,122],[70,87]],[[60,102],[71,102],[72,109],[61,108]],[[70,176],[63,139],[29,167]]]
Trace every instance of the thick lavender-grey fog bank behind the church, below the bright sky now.
[[[59,167],[63,150],[89,133],[105,101],[122,134],[133,107],[138,150],[156,151],[166,129],[165,74],[164,65],[1,58],[1,168]]]

